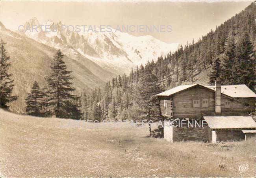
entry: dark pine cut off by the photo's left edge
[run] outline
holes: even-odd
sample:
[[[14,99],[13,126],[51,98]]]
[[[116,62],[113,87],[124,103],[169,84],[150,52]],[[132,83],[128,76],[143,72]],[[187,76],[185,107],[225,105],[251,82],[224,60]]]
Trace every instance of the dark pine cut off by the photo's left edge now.
[[[9,73],[10,56],[8,56],[5,49],[4,40],[0,41],[0,107],[9,109],[9,103],[17,100],[18,96],[11,96],[13,91],[12,74]]]

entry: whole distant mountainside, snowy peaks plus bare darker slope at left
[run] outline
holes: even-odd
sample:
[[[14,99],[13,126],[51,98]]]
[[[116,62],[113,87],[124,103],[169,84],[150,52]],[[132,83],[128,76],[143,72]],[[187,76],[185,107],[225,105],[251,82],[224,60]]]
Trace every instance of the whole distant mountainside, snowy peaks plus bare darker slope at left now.
[[[39,26],[36,18],[26,26]],[[73,33],[61,31],[61,22],[48,21],[57,30],[47,32],[36,30],[16,33],[0,22],[0,37],[7,42],[6,49],[11,59],[10,72],[15,81],[14,94],[19,96],[12,109],[22,113],[24,99],[34,81],[45,87],[45,77],[50,73],[50,64],[56,49],[65,54],[74,77],[78,94],[82,89],[104,87],[106,81],[117,74],[129,72],[131,67],[145,64],[161,54],[176,50],[178,44],[165,44],[152,36],[135,37],[127,33]],[[44,24],[44,25],[45,25]]]

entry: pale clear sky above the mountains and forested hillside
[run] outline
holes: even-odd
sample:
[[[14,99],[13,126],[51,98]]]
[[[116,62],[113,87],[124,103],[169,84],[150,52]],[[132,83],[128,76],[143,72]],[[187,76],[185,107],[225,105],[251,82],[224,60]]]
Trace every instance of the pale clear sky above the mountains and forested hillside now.
[[[166,43],[185,44],[206,35],[251,2],[0,0],[0,21],[13,31],[32,17],[37,17],[40,23],[52,20],[65,25],[171,25],[171,32],[128,33],[135,36],[152,35]]]

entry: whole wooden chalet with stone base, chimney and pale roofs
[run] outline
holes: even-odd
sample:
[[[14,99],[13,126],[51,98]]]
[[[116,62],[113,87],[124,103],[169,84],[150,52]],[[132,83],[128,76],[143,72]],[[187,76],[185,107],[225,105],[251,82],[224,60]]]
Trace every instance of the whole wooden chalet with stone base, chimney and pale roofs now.
[[[248,114],[255,111],[256,94],[246,85],[221,85],[220,81],[210,86],[181,85],[156,96],[166,120],[197,119],[213,123],[213,126],[208,124],[207,131],[164,128],[165,137],[171,142],[240,140],[256,134],[256,122]]]

